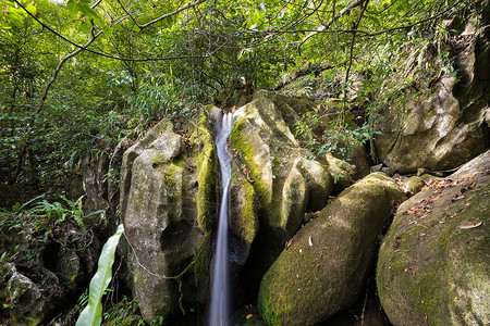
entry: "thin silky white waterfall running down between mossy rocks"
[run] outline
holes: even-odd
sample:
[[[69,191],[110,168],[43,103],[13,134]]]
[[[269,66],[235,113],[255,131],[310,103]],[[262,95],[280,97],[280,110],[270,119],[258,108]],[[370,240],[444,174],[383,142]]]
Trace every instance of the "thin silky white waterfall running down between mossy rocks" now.
[[[216,254],[211,275],[211,303],[209,305],[209,326],[224,326],[230,317],[230,289],[228,271],[228,188],[231,178],[230,156],[226,139],[230,136],[233,114],[223,115],[221,129],[216,138],[216,148],[221,168],[221,205],[218,222]]]

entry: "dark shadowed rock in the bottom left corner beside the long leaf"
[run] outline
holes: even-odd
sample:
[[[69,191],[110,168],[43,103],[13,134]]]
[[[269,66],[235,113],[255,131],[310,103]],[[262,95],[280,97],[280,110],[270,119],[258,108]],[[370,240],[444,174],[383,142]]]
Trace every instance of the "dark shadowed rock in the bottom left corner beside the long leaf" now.
[[[0,227],[0,252],[7,253],[0,262],[0,317],[9,315],[13,325],[47,325],[85,289],[100,246],[69,222],[49,240],[27,227],[23,231]]]

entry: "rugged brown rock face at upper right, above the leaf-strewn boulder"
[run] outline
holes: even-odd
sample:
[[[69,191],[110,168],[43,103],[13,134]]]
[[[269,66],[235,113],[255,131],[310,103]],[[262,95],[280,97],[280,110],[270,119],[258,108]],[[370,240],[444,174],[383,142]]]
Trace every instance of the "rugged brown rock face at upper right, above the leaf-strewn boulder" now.
[[[444,74],[432,97],[425,92],[404,110],[382,113],[383,134],[376,146],[380,159],[396,172],[455,168],[490,146],[490,17],[482,13],[450,22],[449,28],[458,32],[455,40],[466,45],[452,49],[457,76]],[[478,25],[483,27],[475,29]]]

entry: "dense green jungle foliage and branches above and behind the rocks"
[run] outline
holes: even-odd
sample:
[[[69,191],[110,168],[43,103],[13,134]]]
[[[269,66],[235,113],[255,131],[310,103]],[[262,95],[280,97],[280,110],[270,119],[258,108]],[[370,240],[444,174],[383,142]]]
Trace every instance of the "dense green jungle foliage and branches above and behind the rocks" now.
[[[163,117],[184,129],[205,105],[226,110],[262,88],[342,103],[323,142],[309,143],[314,154],[369,143],[380,109],[457,76],[448,20],[479,2],[0,0],[0,183],[29,203],[3,217],[45,239],[68,218],[85,229],[94,212],[63,186],[84,158],[110,154]],[[48,191],[56,200],[38,197]]]

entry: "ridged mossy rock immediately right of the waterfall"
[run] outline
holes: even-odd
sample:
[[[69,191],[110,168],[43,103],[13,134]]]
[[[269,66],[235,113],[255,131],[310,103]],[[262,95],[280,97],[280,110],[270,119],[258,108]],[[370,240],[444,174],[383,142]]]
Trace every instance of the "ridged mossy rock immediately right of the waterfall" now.
[[[326,205],[333,178],[324,161],[305,159],[309,153],[294,136],[294,123],[314,104],[267,91],[254,99],[234,112],[230,198],[238,204],[232,205],[231,221],[246,229],[250,252],[244,287],[256,291],[305,212]]]

